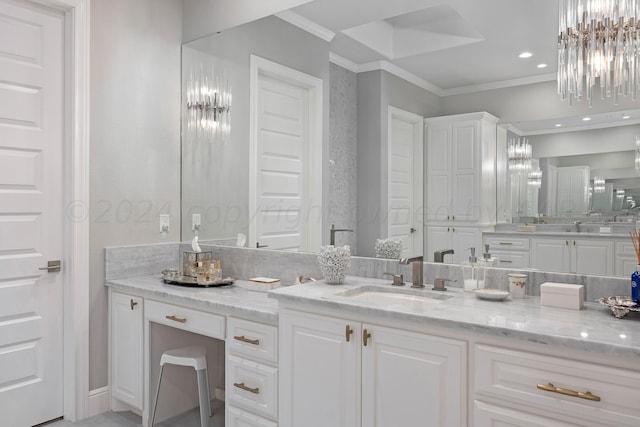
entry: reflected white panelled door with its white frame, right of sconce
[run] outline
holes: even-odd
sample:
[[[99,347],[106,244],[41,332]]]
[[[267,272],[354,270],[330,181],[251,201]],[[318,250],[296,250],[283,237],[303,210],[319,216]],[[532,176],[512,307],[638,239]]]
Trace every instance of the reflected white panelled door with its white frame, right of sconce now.
[[[256,63],[275,68],[262,72]],[[316,250],[321,231],[322,81],[252,57],[250,244]]]

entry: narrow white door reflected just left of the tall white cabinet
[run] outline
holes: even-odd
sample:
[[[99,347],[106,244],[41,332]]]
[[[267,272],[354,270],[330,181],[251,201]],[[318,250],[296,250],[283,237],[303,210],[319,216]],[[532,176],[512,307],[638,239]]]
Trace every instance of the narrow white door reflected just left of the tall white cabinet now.
[[[423,118],[389,107],[387,236],[402,240],[402,256],[422,254],[424,227]]]

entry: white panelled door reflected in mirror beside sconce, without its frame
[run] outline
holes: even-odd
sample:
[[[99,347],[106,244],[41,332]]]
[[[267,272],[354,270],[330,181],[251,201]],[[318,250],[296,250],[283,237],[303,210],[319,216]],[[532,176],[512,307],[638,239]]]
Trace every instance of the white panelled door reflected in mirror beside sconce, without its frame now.
[[[308,89],[259,76],[255,241],[307,249]]]

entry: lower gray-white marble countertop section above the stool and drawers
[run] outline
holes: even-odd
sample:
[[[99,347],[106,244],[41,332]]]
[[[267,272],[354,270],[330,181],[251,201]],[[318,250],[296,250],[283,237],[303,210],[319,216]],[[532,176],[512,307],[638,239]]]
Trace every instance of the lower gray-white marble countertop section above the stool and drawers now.
[[[278,324],[278,303],[267,297],[261,285],[236,280],[233,286],[196,288],[169,285],[160,275],[107,280],[106,285],[117,291],[203,311],[211,311],[258,322]]]

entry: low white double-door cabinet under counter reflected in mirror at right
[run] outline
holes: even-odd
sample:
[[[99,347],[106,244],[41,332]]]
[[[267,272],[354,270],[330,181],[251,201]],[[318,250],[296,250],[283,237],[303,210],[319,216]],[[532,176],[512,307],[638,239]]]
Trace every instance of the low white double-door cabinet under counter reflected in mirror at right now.
[[[612,275],[614,243],[606,239],[532,238],[531,267],[543,271]]]

